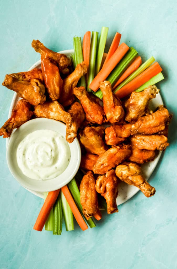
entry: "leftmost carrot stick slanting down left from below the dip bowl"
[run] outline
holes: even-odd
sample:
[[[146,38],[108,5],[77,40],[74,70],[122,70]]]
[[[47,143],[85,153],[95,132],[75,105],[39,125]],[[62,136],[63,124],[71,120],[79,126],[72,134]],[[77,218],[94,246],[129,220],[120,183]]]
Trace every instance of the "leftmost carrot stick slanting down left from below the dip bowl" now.
[[[59,192],[60,192],[60,189],[54,190],[53,192],[48,193],[48,195],[44,201],[44,204],[41,208],[41,211],[39,212],[37,220],[34,224],[34,227],[33,227],[34,230],[40,231],[40,232],[42,231],[42,229],[45,225],[45,222],[50,214],[50,211],[51,211],[53,205],[55,204],[55,201],[58,197]]]

